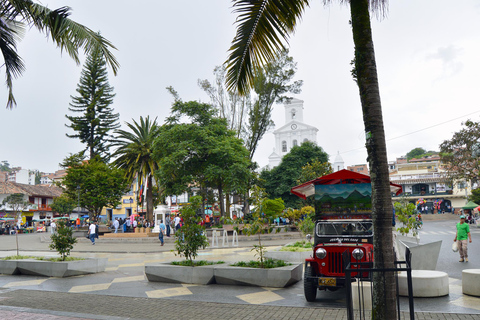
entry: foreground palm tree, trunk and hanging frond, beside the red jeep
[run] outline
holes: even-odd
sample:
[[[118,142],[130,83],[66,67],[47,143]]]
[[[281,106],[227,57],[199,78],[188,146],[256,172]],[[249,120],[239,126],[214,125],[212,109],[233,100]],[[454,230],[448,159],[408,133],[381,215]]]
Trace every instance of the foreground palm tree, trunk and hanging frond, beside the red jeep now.
[[[331,3],[333,0],[324,0]],[[339,0],[339,2],[346,2]],[[383,14],[385,0],[350,0],[351,25],[355,44],[353,75],[360,91],[366,147],[372,182],[374,222],[374,263],[377,268],[394,265],[392,241],[392,203],[382,108],[370,25],[369,9]],[[246,93],[252,87],[256,70],[272,60],[284,48],[295,30],[308,0],[250,1],[235,0],[237,34],[230,48],[227,64],[227,87]],[[393,275],[374,278],[373,318],[391,319],[396,315]]]

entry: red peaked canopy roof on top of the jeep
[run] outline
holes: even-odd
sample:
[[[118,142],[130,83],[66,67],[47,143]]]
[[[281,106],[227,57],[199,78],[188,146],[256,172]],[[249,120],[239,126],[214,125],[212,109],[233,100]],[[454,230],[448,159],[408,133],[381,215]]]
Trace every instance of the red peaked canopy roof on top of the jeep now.
[[[302,183],[293,187],[290,192],[300,198],[306,199],[315,194],[315,186],[318,184],[354,184],[354,183],[370,183],[370,176],[350,170],[340,170],[326,176]],[[395,195],[402,193],[402,186],[390,182],[390,191]]]

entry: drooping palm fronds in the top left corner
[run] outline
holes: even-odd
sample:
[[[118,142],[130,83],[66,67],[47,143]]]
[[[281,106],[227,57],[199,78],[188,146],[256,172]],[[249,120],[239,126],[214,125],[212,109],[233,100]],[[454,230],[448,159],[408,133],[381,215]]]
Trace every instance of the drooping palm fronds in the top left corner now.
[[[115,47],[96,32],[70,20],[69,15],[69,7],[50,10],[31,0],[0,0],[0,51],[8,88],[7,108],[11,109],[16,105],[12,80],[25,71],[23,60],[17,53],[17,44],[25,31],[32,27],[50,37],[53,43],[61,51],[66,51],[77,64],[80,64],[80,48],[84,49],[85,54],[99,48],[113,73],[117,73],[119,64],[110,52],[110,49]]]

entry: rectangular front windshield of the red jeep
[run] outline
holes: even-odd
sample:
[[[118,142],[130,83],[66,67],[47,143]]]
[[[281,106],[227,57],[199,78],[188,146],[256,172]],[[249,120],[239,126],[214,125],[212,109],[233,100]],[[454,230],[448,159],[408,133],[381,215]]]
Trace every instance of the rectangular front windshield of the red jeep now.
[[[371,236],[371,221],[319,221],[316,226],[317,236]]]

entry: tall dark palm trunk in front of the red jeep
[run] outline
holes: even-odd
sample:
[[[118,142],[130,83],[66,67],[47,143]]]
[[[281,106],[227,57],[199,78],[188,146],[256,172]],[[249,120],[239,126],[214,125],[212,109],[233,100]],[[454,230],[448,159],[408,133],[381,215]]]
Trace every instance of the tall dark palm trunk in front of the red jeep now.
[[[372,182],[374,266],[393,268],[392,202],[387,148],[382,119],[368,0],[351,0],[355,43],[355,74],[365,124],[366,148]],[[395,278],[392,272],[374,273],[372,319],[396,319]]]

